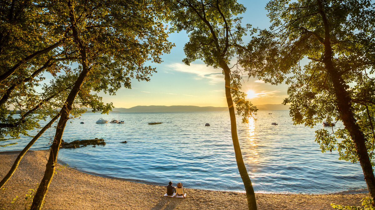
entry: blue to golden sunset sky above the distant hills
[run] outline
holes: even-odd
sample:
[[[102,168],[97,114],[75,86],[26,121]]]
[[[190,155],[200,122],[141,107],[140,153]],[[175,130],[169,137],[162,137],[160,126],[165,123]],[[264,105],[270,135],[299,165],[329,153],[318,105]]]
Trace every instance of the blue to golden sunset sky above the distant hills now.
[[[253,27],[270,26],[267,10],[268,1],[240,0],[247,9],[242,23]],[[113,102],[116,108],[130,108],[138,105],[193,105],[199,107],[226,107],[224,76],[221,69],[207,67],[201,60],[185,65],[183,47],[189,38],[186,33],[169,34],[169,41],[175,43],[170,54],[162,56],[163,63],[156,67],[151,81],[132,80],[132,89],[121,88],[115,96],[99,93],[105,103]],[[248,43],[250,37],[245,37]],[[272,86],[257,78],[244,77],[242,90],[248,93],[254,105],[281,104],[287,96],[287,85]],[[252,96],[252,97],[251,97]]]

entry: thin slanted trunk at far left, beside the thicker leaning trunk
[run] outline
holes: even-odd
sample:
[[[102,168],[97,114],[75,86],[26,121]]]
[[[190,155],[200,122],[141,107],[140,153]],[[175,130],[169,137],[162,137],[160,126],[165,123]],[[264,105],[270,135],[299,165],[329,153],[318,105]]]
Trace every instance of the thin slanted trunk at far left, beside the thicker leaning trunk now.
[[[5,175],[5,177],[0,181],[0,188],[3,187],[6,182],[10,179],[10,177],[12,177],[12,175],[14,174],[14,172],[16,171],[18,165],[20,164],[23,156],[26,154],[27,150],[30,149],[30,147],[35,143],[35,141],[49,128],[51,127],[52,123],[54,123],[57,118],[60,117],[60,113],[58,113],[54,118],[52,118],[51,121],[49,121],[48,124],[46,124],[42,130],[39,131],[39,133],[37,133],[36,136],[34,136],[33,139],[31,139],[31,141],[26,145],[26,147],[21,151],[20,154],[18,154],[16,160],[14,161],[13,165],[12,165],[12,168],[10,168],[9,172]]]

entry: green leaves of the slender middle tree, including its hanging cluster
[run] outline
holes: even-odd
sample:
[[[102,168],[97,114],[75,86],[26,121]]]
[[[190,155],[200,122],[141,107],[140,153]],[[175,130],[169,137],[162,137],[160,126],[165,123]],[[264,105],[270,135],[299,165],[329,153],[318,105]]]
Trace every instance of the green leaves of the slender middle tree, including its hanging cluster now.
[[[242,37],[251,27],[241,25],[242,17],[237,16],[246,8],[236,1],[181,0],[166,7],[171,10],[169,21],[174,26],[171,31],[189,34],[189,42],[184,46],[186,57],[182,60],[186,65],[195,60],[202,60],[213,68],[229,65],[237,46],[243,44]],[[246,101],[246,94],[241,91],[242,72],[238,68],[231,70],[230,80],[237,113],[243,117],[243,123],[247,123],[257,108]]]

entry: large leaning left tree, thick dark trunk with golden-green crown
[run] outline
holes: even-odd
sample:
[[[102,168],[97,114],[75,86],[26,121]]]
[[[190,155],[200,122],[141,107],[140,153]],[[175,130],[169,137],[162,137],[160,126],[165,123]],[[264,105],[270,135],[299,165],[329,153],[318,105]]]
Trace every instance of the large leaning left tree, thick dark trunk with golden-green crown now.
[[[159,63],[160,55],[169,52],[163,15],[151,7],[153,1],[73,1],[55,3],[51,12],[68,20],[72,31],[72,54],[80,58],[79,76],[66,98],[58,121],[51,152],[42,181],[34,195],[31,209],[40,209],[55,172],[63,131],[77,95],[91,91],[114,94],[121,87],[130,88],[130,79],[149,80],[148,60]],[[89,104],[89,102],[80,102]]]

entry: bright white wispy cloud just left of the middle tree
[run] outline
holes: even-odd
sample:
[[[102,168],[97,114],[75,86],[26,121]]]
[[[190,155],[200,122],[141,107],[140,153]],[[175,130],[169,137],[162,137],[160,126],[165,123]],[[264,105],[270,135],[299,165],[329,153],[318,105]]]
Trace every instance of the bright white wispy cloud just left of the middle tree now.
[[[214,69],[204,64],[192,63],[190,64],[190,66],[187,66],[183,63],[171,63],[169,65],[166,65],[166,68],[166,70],[168,71],[178,71],[195,74],[198,76],[197,79],[208,79],[211,83],[218,83],[223,81],[224,79],[221,69]]]

